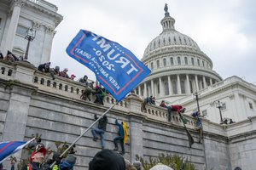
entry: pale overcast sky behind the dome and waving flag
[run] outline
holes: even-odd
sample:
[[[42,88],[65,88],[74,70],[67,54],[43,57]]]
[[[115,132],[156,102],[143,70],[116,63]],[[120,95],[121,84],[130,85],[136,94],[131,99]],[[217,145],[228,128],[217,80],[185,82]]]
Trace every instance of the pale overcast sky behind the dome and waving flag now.
[[[78,79],[94,73],[65,50],[80,29],[119,42],[142,59],[148,43],[162,31],[168,4],[177,31],[191,37],[224,79],[241,77],[256,85],[256,1],[253,0],[47,0],[64,19],[57,26],[52,66],[68,68]]]

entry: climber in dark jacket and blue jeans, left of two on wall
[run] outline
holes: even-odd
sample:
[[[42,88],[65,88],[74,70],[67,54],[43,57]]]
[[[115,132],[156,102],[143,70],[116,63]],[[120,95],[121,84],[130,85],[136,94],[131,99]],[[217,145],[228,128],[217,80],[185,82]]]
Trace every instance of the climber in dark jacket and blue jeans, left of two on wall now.
[[[96,114],[94,115],[95,120],[98,119]],[[107,128],[107,123],[108,123],[108,117],[104,115],[98,122],[98,127],[92,127],[91,128],[91,133],[93,135],[93,140],[96,141],[98,138],[96,134],[99,134],[101,137],[101,144],[102,144],[102,149],[105,148],[105,141],[104,141],[104,133],[106,132]]]

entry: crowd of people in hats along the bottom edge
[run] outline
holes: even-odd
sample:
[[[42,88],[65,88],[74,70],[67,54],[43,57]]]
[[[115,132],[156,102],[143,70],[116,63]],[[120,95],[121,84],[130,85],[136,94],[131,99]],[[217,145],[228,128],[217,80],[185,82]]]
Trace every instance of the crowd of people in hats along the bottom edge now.
[[[32,154],[28,157],[28,162],[21,165],[21,170],[73,170],[77,157],[75,150],[67,150],[67,155],[55,151],[48,155],[48,150],[44,144],[36,142],[36,146],[32,149]],[[30,147],[30,145],[28,146]],[[14,164],[11,162],[12,169],[15,170]],[[133,164],[126,160],[118,152],[114,150],[103,149],[98,151],[89,162],[89,170],[142,170],[140,161]],[[3,164],[0,164],[3,170]]]

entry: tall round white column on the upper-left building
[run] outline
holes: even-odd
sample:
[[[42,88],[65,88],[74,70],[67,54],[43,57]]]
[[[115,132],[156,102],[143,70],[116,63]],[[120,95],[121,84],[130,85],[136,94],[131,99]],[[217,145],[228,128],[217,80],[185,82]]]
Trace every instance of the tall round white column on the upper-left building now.
[[[3,54],[7,54],[7,51],[12,51],[14,41],[15,41],[15,33],[17,30],[19,18],[20,18],[20,9],[23,6],[23,4],[26,2],[26,0],[15,0],[13,1],[13,12],[11,15],[10,23],[9,23],[9,29],[7,31],[6,40],[4,43],[3,48]]]

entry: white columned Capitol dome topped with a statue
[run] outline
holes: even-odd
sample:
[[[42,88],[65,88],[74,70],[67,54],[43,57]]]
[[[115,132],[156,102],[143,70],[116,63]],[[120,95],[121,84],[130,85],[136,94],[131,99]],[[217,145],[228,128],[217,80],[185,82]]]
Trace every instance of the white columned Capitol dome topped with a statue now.
[[[163,31],[148,43],[142,62],[150,75],[135,88],[135,93],[157,101],[176,101],[222,80],[207,54],[189,36],[175,30],[175,20],[164,8],[160,21]]]

